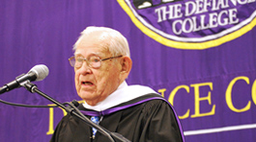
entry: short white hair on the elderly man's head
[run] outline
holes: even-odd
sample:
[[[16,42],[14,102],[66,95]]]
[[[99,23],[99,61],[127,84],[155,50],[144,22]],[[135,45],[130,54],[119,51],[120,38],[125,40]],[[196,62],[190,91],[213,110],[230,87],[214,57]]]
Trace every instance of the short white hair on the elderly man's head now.
[[[95,32],[101,33],[100,38],[102,39],[102,44],[107,45],[112,56],[123,55],[130,57],[127,38],[118,31],[106,27],[87,27],[83,32],[81,32],[81,35],[74,43],[73,51],[76,50],[77,44],[82,40],[83,36],[90,36],[90,34]]]

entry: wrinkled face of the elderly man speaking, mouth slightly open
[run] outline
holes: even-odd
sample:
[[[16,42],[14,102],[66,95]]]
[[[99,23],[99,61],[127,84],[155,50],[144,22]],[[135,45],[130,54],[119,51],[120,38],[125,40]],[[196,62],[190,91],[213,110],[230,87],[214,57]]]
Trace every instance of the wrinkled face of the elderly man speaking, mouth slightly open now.
[[[99,34],[84,37],[77,44],[75,57],[81,56],[87,59],[90,56],[98,56],[100,59],[112,57],[106,47],[100,45]],[[101,61],[99,68],[89,67],[86,61],[80,68],[74,67],[75,87],[78,95],[88,105],[95,106],[114,92],[120,84],[121,65],[114,59]]]

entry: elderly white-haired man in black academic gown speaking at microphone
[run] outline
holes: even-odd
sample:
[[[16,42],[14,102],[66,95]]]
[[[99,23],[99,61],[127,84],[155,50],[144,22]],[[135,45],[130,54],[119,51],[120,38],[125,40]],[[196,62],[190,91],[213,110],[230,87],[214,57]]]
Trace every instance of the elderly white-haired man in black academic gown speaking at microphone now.
[[[132,142],[184,141],[172,106],[150,87],[126,83],[132,62],[124,36],[109,28],[88,27],[73,50],[74,57],[69,60],[75,72],[75,87],[85,101],[78,108],[86,117]],[[109,139],[68,114],[58,124],[51,141]]]

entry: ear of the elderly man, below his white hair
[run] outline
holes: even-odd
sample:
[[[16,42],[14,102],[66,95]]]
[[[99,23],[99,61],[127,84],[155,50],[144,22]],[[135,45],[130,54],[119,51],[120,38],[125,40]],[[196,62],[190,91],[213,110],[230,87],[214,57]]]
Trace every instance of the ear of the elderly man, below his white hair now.
[[[127,79],[128,77],[128,74],[131,70],[131,66],[132,66],[132,61],[130,58],[128,57],[122,57],[121,59],[121,76],[124,80]]]

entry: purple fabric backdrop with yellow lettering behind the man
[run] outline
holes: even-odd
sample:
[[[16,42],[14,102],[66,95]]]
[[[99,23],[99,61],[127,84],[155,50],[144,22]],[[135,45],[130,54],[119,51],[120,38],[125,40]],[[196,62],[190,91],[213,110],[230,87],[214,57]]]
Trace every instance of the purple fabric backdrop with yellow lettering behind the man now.
[[[250,2],[243,7],[255,11],[255,1]],[[128,38],[133,60],[128,84],[148,85],[163,95],[175,107],[187,142],[256,141],[255,20],[245,33],[211,48],[182,49],[148,36],[122,3],[0,0],[0,85],[27,73],[36,64],[45,64],[49,75],[36,83],[39,89],[61,103],[81,101],[68,60],[73,54],[72,45],[87,26],[110,27]],[[2,94],[0,99],[52,105],[23,87]],[[58,107],[1,103],[1,141],[49,141],[64,115]]]

